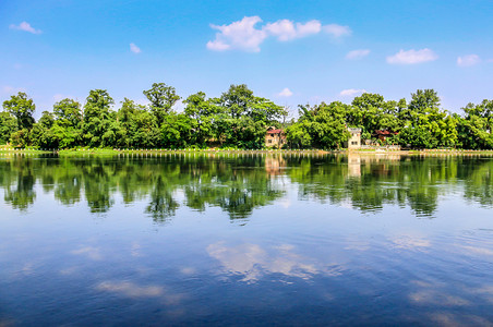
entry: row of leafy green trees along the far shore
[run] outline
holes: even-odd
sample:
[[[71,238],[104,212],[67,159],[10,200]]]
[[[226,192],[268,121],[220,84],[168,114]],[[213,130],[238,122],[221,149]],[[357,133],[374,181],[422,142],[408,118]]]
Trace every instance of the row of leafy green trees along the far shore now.
[[[62,99],[36,121],[36,106],[25,93],[3,102],[0,143],[41,148],[205,148],[265,147],[267,128],[286,131],[289,148],[341,148],[348,128],[362,129],[362,140],[411,148],[454,147],[493,149],[493,100],[469,104],[461,113],[441,107],[433,89],[418,89],[406,99],[385,100],[365,93],[351,104],[333,101],[299,106],[298,119],[288,110],[257,97],[246,85],[231,85],[217,98],[199,92],[183,100],[184,110],[173,107],[181,99],[175,87],[154,83],[143,94],[149,105],[124,98],[118,110],[105,89],[89,92],[85,104]],[[375,131],[390,132],[384,141]]]

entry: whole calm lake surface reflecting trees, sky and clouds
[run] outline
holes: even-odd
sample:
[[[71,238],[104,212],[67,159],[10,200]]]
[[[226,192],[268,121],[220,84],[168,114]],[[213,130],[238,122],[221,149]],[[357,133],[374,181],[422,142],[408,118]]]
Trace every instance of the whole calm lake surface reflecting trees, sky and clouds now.
[[[493,325],[493,158],[0,155],[0,326]]]

